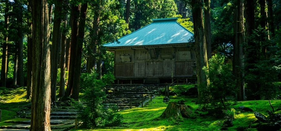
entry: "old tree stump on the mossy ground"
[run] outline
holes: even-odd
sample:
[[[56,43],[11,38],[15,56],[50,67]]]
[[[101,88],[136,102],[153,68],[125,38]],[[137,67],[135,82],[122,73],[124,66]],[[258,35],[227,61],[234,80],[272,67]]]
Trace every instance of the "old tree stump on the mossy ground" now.
[[[170,118],[173,117],[177,119],[178,117],[185,118],[195,118],[195,113],[193,113],[187,105],[180,104],[178,102],[169,102],[167,108],[160,116],[161,118]]]

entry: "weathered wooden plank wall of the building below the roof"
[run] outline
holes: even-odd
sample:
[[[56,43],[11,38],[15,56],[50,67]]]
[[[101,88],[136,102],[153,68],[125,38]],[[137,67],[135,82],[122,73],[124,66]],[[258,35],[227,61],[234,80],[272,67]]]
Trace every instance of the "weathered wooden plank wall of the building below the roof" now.
[[[136,48],[115,51],[115,77],[117,79],[186,78],[193,74],[191,65],[195,62],[195,51],[191,48],[154,48],[156,59],[152,59],[151,48]],[[122,62],[121,57],[130,56]],[[155,57],[155,55],[154,55]]]

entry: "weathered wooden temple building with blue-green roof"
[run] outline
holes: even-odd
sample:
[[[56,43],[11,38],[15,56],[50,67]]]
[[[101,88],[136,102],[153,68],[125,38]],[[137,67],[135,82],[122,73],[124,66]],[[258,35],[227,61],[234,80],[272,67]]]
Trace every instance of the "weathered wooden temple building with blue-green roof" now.
[[[152,23],[104,44],[114,52],[115,84],[161,84],[194,75],[194,35],[177,18],[152,19]]]

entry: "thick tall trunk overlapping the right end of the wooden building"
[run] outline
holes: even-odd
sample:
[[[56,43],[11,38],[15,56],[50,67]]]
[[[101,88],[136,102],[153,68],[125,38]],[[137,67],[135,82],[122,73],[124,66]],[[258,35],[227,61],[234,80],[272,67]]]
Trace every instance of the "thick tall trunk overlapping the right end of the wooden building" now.
[[[196,51],[197,83],[198,83],[198,100],[201,100],[201,89],[209,85],[209,80],[202,70],[204,66],[208,68],[207,50],[205,43],[202,3],[201,0],[192,0],[192,15],[194,23],[194,39]]]

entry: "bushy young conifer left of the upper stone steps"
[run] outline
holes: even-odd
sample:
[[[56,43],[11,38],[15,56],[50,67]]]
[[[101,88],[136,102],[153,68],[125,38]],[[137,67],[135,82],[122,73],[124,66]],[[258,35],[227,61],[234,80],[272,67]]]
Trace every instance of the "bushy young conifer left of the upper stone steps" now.
[[[105,86],[111,84],[114,76],[104,75],[101,80],[96,80],[97,74],[84,73],[81,76],[80,87],[83,91],[80,102],[77,102],[78,119],[83,126],[87,128],[96,128],[104,126],[116,126],[121,124],[122,115],[116,114],[116,111],[105,109],[102,101],[106,98]]]

